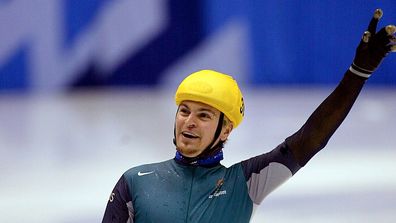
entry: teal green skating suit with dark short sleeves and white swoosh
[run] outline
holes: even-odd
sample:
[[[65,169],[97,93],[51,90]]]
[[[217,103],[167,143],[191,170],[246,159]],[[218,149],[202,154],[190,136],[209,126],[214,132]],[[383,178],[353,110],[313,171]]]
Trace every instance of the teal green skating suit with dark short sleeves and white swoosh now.
[[[254,206],[299,168],[285,143],[229,168],[175,159],[134,167],[117,182],[103,222],[249,222]]]

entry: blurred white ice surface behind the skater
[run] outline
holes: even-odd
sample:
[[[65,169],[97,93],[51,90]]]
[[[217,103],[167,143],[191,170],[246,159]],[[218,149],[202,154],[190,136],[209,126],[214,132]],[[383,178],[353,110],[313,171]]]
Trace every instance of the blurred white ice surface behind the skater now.
[[[246,118],[222,163],[274,148],[331,90],[245,90]],[[100,222],[124,171],[173,157],[175,111],[162,89],[0,95],[0,222]],[[395,114],[395,89],[364,89],[327,147],[252,222],[394,222]]]

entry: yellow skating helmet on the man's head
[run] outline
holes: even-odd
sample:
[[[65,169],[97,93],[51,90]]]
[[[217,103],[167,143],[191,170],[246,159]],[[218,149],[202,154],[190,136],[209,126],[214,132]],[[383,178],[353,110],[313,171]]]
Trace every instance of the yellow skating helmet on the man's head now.
[[[179,85],[176,105],[182,101],[198,101],[224,113],[236,128],[243,119],[245,105],[237,82],[229,75],[213,70],[190,74]]]

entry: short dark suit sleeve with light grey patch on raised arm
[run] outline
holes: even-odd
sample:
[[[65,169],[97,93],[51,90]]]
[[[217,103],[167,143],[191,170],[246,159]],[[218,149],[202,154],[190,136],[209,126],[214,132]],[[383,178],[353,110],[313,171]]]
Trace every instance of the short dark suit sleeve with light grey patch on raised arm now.
[[[257,205],[300,169],[286,143],[269,153],[244,160],[241,165],[249,196]]]

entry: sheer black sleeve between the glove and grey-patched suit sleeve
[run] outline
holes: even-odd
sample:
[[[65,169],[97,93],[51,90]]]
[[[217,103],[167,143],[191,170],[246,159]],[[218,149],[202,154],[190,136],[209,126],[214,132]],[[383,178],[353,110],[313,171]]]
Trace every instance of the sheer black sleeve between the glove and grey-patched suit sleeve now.
[[[366,78],[347,71],[336,89],[319,105],[307,122],[286,139],[300,166],[304,166],[341,125],[358,97]]]

